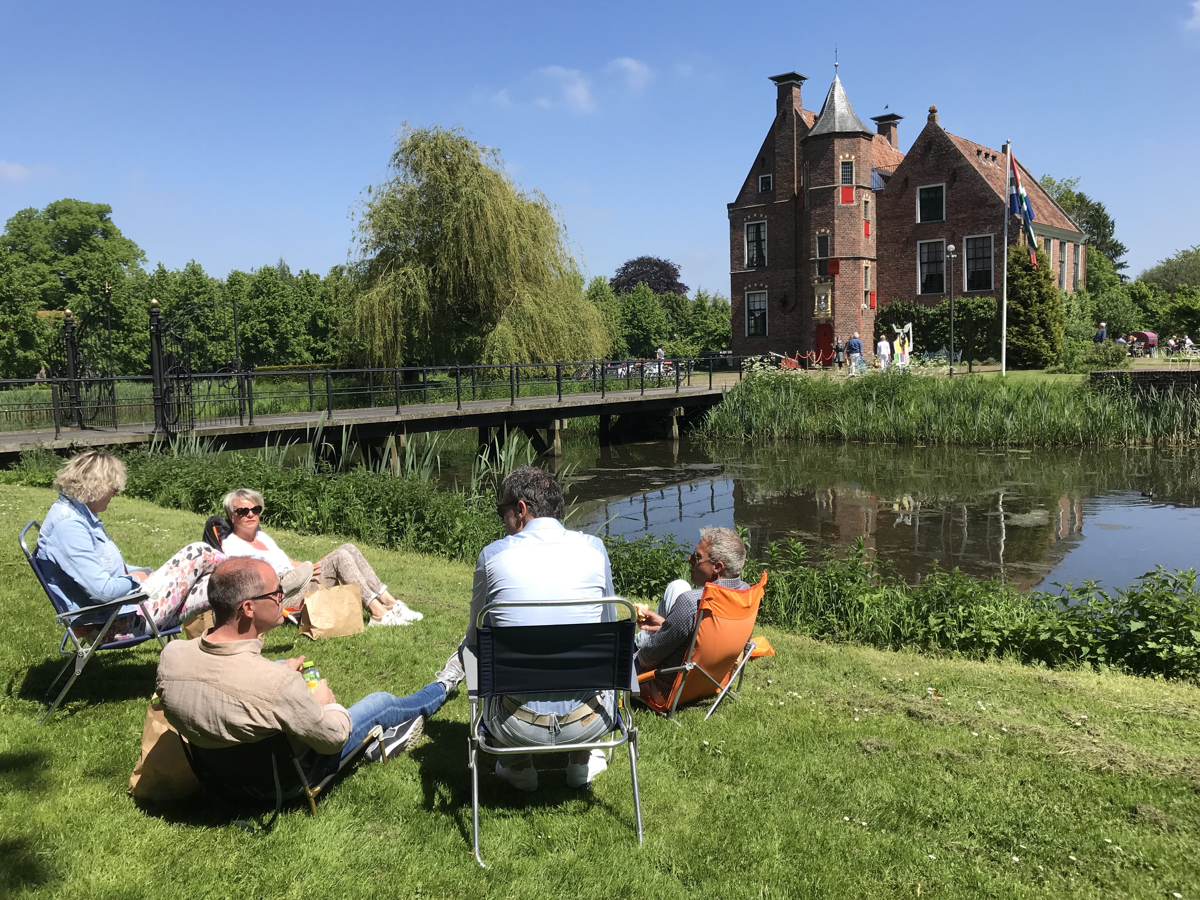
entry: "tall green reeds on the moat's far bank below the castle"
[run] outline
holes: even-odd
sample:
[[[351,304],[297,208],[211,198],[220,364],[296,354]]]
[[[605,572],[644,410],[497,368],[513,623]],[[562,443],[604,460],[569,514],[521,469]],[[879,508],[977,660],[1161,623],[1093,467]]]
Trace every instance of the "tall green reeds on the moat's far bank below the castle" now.
[[[713,408],[710,438],[875,440],[979,446],[1176,446],[1200,438],[1200,398],[1070,382],[870,372],[810,378],[766,368]]]

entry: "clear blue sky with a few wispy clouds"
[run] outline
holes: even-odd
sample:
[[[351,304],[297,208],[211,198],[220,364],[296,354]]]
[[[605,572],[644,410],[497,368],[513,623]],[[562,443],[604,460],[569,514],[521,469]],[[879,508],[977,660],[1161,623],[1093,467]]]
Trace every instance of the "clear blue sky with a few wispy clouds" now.
[[[847,18],[852,10],[854,18]],[[995,4],[0,2],[0,218],[112,204],[151,264],[324,272],[402,122],[464,127],[542,191],[592,275],[677,262],[728,293],[725,204],[768,76],[834,44],[866,119],[1079,175],[1130,271],[1200,244],[1200,0]]]

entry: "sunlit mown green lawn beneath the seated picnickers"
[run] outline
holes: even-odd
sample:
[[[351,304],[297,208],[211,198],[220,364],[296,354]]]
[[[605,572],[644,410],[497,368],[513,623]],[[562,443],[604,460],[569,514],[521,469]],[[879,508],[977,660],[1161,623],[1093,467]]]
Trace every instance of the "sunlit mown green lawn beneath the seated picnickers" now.
[[[59,632],[16,536],[49,491],[0,486],[0,896],[47,898],[1195,898],[1200,691],[1184,684],[830,646],[767,629],[740,703],[682,727],[637,713],[646,845],[628,757],[594,792],[547,772],[518,794],[482,784],[470,854],[467,700],[413,752],[367,764],[313,818],[269,835],[204,800],[126,796],[152,690],[151,644],[102,654],[37,726]],[[157,564],[199,516],[118,498],[104,516],[130,562]],[[293,556],[330,536],[276,533]],[[464,628],[470,569],[368,548],[410,628],[310,642],[346,703],[428,682]],[[930,696],[934,688],[941,697]],[[562,766],[562,762],[551,764]],[[1177,893],[1175,893],[1177,892]]]

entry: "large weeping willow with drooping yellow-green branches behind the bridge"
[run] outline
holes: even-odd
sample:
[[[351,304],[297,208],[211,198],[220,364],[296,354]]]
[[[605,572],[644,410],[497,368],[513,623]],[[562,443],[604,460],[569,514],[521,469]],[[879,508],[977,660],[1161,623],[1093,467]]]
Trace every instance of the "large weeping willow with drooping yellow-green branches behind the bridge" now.
[[[359,220],[353,340],[376,365],[604,355],[608,336],[546,198],[460,128],[406,128]]]

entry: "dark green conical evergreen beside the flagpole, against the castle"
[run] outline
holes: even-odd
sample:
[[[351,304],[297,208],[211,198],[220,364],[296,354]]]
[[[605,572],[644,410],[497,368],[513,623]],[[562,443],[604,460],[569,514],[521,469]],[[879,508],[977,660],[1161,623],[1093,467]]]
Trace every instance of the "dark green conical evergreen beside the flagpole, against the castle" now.
[[[1064,311],[1050,262],[1040,250],[1038,268],[1028,247],[1008,252],[1008,360],[1014,368],[1044,368],[1058,360]]]

